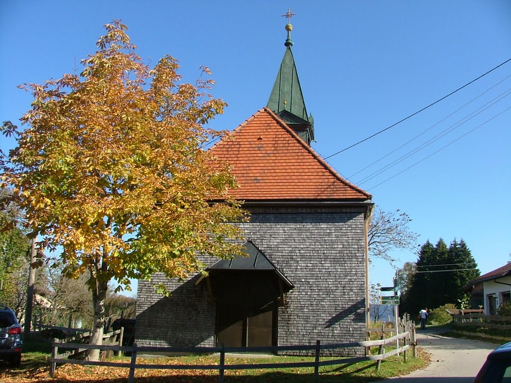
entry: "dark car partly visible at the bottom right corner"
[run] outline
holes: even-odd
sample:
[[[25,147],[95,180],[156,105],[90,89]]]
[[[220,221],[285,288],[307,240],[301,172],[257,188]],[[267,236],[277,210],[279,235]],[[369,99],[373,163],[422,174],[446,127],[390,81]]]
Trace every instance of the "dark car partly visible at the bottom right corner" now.
[[[511,342],[490,352],[474,383],[511,383]]]

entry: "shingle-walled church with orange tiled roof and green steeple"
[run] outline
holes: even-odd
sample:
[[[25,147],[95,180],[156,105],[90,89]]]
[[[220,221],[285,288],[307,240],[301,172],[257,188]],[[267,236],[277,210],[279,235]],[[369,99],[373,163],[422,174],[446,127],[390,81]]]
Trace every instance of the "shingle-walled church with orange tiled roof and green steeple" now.
[[[204,258],[208,275],[184,282],[162,273],[139,281],[138,345],[365,340],[371,195],[311,148],[314,122],[298,80],[289,23],[286,30],[286,51],[267,106],[210,149],[233,167],[240,188],[229,193],[251,214],[240,224],[247,256]],[[159,282],[170,297],[154,292]],[[361,356],[364,350],[334,354]]]

